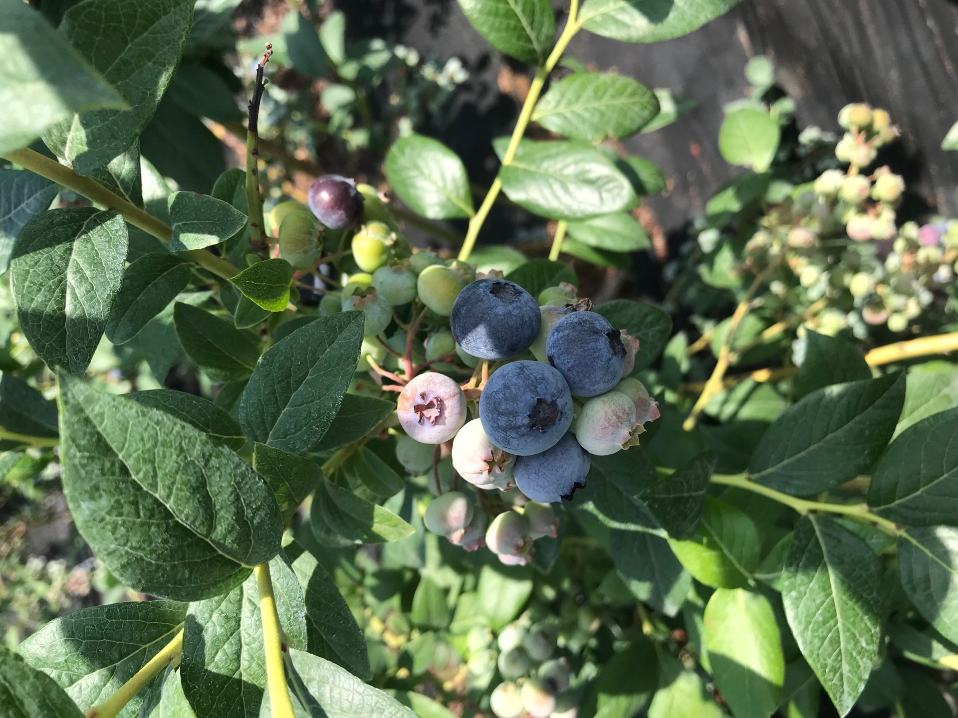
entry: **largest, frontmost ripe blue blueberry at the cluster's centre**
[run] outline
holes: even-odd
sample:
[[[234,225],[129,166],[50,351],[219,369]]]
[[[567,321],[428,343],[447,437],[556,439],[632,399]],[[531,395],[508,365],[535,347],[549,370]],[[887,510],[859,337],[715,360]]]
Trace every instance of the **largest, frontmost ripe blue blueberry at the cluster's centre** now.
[[[572,395],[559,371],[539,362],[512,362],[495,370],[479,399],[490,441],[516,456],[556,445],[572,423]]]

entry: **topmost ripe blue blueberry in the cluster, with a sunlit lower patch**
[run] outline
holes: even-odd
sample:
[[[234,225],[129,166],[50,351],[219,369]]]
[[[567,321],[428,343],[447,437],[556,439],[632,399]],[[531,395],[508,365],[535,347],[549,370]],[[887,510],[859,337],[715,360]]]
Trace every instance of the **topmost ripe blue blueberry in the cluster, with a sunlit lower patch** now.
[[[514,281],[475,280],[459,293],[450,316],[452,335],[480,359],[512,359],[532,346],[538,303]]]

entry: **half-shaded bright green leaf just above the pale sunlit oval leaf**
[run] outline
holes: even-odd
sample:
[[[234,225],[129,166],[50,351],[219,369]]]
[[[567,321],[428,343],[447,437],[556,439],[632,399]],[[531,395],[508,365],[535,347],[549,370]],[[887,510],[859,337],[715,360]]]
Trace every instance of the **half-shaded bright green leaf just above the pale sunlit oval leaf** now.
[[[744,586],[759,566],[759,530],[747,513],[707,498],[696,532],[669,542],[682,566],[706,586]]]

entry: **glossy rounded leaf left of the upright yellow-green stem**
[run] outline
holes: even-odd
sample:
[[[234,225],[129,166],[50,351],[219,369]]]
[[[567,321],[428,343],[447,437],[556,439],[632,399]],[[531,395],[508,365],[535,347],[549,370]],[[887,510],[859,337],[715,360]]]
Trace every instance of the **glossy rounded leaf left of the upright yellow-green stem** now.
[[[472,192],[459,156],[423,135],[400,137],[386,155],[386,179],[409,209],[429,219],[472,214]]]

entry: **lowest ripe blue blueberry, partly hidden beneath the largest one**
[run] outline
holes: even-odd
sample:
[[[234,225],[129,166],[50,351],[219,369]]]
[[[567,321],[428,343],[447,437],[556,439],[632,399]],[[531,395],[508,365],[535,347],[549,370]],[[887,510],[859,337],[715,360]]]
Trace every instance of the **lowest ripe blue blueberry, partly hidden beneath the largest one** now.
[[[513,478],[519,491],[533,501],[569,501],[577,488],[585,486],[589,463],[588,453],[569,433],[541,454],[516,459]]]

